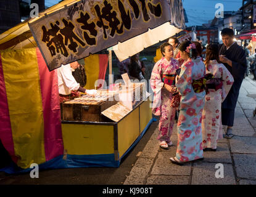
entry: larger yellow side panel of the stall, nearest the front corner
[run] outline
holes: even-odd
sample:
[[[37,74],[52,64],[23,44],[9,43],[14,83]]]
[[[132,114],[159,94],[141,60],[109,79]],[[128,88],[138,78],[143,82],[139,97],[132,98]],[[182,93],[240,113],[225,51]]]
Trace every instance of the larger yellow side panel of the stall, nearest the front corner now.
[[[118,123],[118,151],[120,158],[138,137],[139,108],[136,108]]]

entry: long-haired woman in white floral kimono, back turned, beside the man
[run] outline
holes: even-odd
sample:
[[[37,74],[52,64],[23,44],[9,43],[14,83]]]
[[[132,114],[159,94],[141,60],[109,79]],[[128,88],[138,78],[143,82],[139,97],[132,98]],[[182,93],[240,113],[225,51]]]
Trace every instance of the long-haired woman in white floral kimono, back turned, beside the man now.
[[[203,150],[217,150],[217,140],[223,138],[221,103],[228,95],[234,79],[228,69],[220,63],[218,45],[210,44],[206,49],[206,74],[213,79],[206,82],[205,105],[202,113]]]

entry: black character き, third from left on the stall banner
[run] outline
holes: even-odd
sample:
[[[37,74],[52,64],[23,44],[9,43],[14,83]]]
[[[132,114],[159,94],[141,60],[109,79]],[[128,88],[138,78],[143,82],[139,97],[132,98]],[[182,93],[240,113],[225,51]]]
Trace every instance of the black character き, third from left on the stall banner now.
[[[96,25],[94,22],[88,23],[89,20],[89,14],[83,14],[83,12],[80,12],[80,18],[76,19],[78,23],[83,23],[81,26],[81,29],[83,30],[88,30],[91,35],[94,37],[97,36],[97,30],[95,29]],[[95,38],[90,38],[88,33],[86,31],[83,31],[83,38],[85,38],[87,44],[89,45],[95,45],[96,44],[96,39]]]

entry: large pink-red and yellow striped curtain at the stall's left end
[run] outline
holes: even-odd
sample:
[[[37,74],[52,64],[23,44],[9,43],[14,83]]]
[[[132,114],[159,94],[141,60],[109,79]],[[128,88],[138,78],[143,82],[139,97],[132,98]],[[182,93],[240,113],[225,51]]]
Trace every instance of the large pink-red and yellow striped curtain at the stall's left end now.
[[[38,48],[0,53],[0,139],[26,169],[63,155],[56,70]]]

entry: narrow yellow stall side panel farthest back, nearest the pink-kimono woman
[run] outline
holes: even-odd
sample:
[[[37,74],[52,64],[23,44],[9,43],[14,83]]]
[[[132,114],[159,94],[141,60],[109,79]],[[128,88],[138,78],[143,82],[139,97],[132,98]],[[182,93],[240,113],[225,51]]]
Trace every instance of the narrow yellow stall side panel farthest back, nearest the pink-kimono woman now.
[[[152,108],[150,108],[150,103],[151,101],[147,100],[139,106],[139,113],[140,113],[139,121],[140,121],[141,132],[145,129],[149,121],[151,121],[152,119]]]

